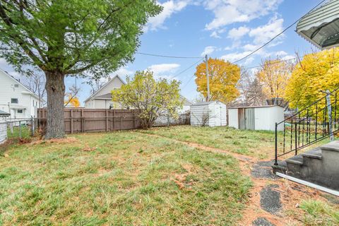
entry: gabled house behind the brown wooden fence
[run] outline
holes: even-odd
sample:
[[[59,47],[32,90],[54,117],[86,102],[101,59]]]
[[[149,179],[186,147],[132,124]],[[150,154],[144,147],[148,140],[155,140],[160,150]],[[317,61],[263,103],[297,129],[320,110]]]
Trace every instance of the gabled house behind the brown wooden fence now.
[[[121,85],[126,84],[120,76],[114,76],[102,88],[90,95],[85,100],[85,108],[90,109],[109,109],[109,108],[121,108],[121,105],[116,102],[112,102],[112,90],[119,89]]]

